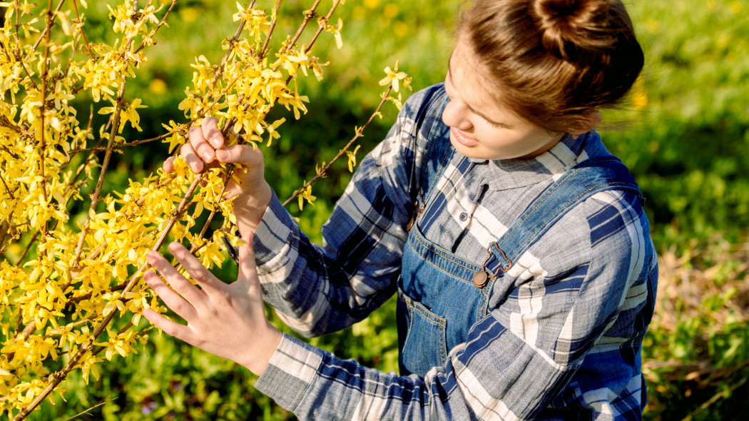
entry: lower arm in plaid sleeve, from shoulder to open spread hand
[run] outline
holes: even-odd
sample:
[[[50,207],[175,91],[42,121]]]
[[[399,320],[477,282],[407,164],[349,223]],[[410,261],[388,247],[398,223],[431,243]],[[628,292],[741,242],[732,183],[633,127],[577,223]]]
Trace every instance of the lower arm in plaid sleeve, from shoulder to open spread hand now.
[[[568,244],[571,251],[547,253],[552,260],[586,258],[556,274],[517,281],[507,299],[473,326],[467,342],[450,352],[446,366],[425,378],[366,369],[281,336],[264,318],[249,246],[240,249],[240,276],[231,285],[210,276],[184,247],[170,246],[202,290],[151,253],[148,260],[176,292],[155,273],[148,273],[148,284],[188,324],[150,309],[144,315],[166,333],[261,374],[255,387],[300,418],[530,420],[562,417],[551,412],[569,405],[577,414],[587,407],[591,416],[631,419],[641,411],[637,355],[657,277],[643,218],[641,209],[624,204],[618,214],[607,214],[604,225],[588,219],[585,247],[577,238]],[[603,235],[593,234],[601,227]],[[555,238],[569,237],[568,232],[562,223]],[[546,243],[557,250],[554,238]],[[542,255],[539,249],[536,254]],[[632,360],[625,361],[627,356]],[[611,360],[615,364],[601,372],[624,375],[599,378],[596,365]]]

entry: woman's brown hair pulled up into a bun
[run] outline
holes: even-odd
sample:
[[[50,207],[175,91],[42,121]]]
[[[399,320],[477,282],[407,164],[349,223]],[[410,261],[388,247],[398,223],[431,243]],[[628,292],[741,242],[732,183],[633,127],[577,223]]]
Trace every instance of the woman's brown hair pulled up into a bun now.
[[[552,132],[591,130],[643,67],[643,50],[620,0],[476,0],[461,16],[500,102]]]

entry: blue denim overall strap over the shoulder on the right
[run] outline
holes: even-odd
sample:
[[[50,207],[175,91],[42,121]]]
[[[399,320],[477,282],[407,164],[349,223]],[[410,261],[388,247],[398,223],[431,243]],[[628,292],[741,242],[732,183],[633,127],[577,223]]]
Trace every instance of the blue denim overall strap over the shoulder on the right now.
[[[591,158],[565,172],[532,202],[507,232],[489,247],[494,258],[485,273],[501,276],[575,205],[604,190],[628,190],[643,196],[627,167],[616,157]],[[480,272],[479,272],[480,273]]]

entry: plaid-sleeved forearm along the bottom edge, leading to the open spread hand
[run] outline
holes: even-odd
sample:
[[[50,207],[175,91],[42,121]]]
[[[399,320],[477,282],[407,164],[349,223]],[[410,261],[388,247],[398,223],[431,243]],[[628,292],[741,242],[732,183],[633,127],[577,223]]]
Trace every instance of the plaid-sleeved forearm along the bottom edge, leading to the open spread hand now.
[[[300,419],[530,419],[570,372],[549,366],[500,326],[482,329],[424,378],[368,369],[285,336],[255,387]]]

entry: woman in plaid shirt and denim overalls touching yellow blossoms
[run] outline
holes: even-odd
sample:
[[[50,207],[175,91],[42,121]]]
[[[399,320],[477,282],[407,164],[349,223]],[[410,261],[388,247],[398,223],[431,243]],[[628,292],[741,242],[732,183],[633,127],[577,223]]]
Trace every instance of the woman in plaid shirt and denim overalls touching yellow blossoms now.
[[[642,65],[619,0],[476,0],[444,84],[404,104],[324,246],[279,204],[260,152],[223,148],[206,119],[182,154],[195,172],[245,167],[229,190],[256,254],[240,248],[224,285],[172,244],[198,290],[151,253],[179,295],[146,282],[188,324],[144,315],[260,375],[301,419],[639,419],[657,257],[637,184],[593,130]],[[314,336],[396,291],[400,376],[282,335],[261,302]]]

